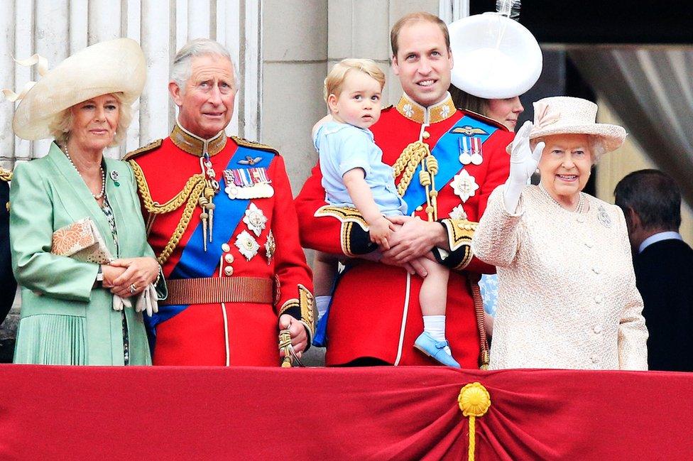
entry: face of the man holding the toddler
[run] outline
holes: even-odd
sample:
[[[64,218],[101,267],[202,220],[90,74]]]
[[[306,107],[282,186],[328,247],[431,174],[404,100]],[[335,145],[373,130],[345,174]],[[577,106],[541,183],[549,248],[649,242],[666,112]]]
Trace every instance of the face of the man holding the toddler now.
[[[404,92],[423,107],[441,102],[450,86],[452,54],[440,26],[429,21],[408,23],[397,40],[392,68]]]

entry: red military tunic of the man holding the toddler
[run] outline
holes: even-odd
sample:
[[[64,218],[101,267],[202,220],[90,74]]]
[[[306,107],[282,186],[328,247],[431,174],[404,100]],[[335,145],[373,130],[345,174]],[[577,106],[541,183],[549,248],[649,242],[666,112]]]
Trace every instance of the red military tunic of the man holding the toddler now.
[[[415,170],[410,174],[408,187],[400,194],[403,193],[410,205],[410,214],[415,212],[422,219],[437,219],[447,230],[452,251],[449,254],[434,251],[439,261],[452,269],[447,292],[446,337],[453,357],[462,367],[477,368],[481,364],[478,326],[481,321],[483,327],[478,315],[481,300],[475,309],[471,288],[472,283],[476,284],[476,275],[471,278],[468,275],[469,272],[493,273],[494,268],[473,258],[469,244],[491,191],[508,178],[510,159],[506,146],[513,134],[491,119],[455,109],[449,97],[425,108],[406,94],[396,107],[383,109],[381,119],[371,131],[383,150],[383,162],[395,166],[398,187],[408,181],[407,168],[401,167],[410,166],[413,170],[419,166],[420,162],[413,158],[415,151],[423,148],[436,159],[434,163],[423,160],[429,170],[437,170],[432,175],[435,187],[422,185],[419,170]],[[463,147],[477,146],[477,143],[482,144],[483,161],[479,165],[463,165],[459,160]],[[320,166],[316,166],[296,198],[303,246],[346,256],[375,249],[362,229],[366,222],[357,210],[325,205],[321,180]],[[431,192],[433,189],[437,194]],[[421,282],[420,277],[409,276],[399,267],[365,259],[351,260],[334,292],[329,311],[327,364],[346,364],[360,357],[374,357],[395,365],[437,363],[413,347],[423,330],[419,305]],[[483,362],[487,359],[483,357]]]

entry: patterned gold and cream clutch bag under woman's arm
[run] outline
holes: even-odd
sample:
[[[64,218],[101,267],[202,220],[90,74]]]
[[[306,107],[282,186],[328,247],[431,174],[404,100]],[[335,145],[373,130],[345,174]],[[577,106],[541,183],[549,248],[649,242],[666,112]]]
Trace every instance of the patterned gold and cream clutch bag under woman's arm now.
[[[99,229],[88,217],[53,232],[50,252],[87,263],[109,264],[113,261]]]

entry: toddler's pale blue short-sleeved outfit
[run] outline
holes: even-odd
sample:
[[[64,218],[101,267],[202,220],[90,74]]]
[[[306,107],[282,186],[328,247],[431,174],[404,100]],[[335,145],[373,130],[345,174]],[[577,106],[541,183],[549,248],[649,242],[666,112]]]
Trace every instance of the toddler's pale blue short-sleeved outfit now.
[[[383,163],[383,151],[369,129],[328,121],[315,134],[325,200],[338,207],[354,207],[344,186],[344,173],[364,170],[366,184],[383,215],[405,215],[407,204],[398,195],[391,166]]]

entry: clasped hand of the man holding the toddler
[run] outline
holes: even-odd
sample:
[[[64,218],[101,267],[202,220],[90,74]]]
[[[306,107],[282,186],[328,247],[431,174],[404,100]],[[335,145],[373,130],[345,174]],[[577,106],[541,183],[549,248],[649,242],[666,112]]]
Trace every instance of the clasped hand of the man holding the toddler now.
[[[390,220],[402,227],[393,232],[389,241],[390,249],[381,249],[384,250],[381,261],[385,264],[413,264],[415,259],[431,251],[434,246],[444,246],[447,241],[445,229],[437,222],[410,216],[391,216]]]

